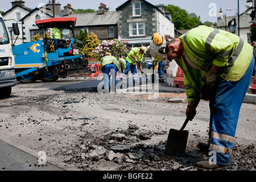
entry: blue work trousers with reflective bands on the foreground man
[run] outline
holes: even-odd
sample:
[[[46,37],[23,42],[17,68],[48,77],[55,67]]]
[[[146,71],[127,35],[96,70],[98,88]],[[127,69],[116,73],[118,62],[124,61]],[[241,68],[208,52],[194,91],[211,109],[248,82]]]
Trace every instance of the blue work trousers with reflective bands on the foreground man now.
[[[250,85],[253,68],[254,56],[240,81],[230,82],[220,78],[216,96],[210,100],[209,149],[216,152],[215,162],[217,164],[231,165],[230,155],[232,154],[238,117]]]

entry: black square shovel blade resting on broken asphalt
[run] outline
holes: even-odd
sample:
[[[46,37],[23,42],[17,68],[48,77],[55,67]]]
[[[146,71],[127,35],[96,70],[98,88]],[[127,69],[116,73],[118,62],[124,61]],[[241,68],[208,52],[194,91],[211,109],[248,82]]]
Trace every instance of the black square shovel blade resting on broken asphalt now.
[[[168,134],[165,156],[185,156],[188,131],[171,129]]]

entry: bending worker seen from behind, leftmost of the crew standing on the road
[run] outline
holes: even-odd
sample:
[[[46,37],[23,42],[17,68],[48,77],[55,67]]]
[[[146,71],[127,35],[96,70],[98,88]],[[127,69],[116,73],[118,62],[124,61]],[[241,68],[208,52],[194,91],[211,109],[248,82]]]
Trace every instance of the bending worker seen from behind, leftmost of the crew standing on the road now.
[[[117,71],[119,71],[119,61],[116,57],[112,56],[110,52],[106,52],[104,57],[101,59],[101,71],[104,76],[104,90],[115,92],[115,86],[117,86]],[[111,73],[114,84],[110,84],[109,73]]]

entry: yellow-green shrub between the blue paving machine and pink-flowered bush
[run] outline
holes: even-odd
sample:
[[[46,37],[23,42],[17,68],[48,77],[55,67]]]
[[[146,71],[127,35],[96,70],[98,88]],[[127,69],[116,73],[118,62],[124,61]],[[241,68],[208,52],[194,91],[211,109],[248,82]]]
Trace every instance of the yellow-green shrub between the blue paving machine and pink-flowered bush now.
[[[87,44],[85,44],[82,51],[85,53],[86,57],[92,58],[94,54],[92,53],[93,50],[100,44],[100,40],[98,39],[97,35],[90,33],[90,35],[86,38]]]

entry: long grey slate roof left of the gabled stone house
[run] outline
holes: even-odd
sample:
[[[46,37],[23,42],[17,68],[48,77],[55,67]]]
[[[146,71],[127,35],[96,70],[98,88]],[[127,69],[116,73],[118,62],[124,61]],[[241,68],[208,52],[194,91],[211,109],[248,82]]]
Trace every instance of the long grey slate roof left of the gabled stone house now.
[[[117,25],[118,13],[116,11],[107,11],[104,14],[98,13],[79,13],[71,14],[69,17],[76,17],[76,27],[79,26],[104,26]]]

